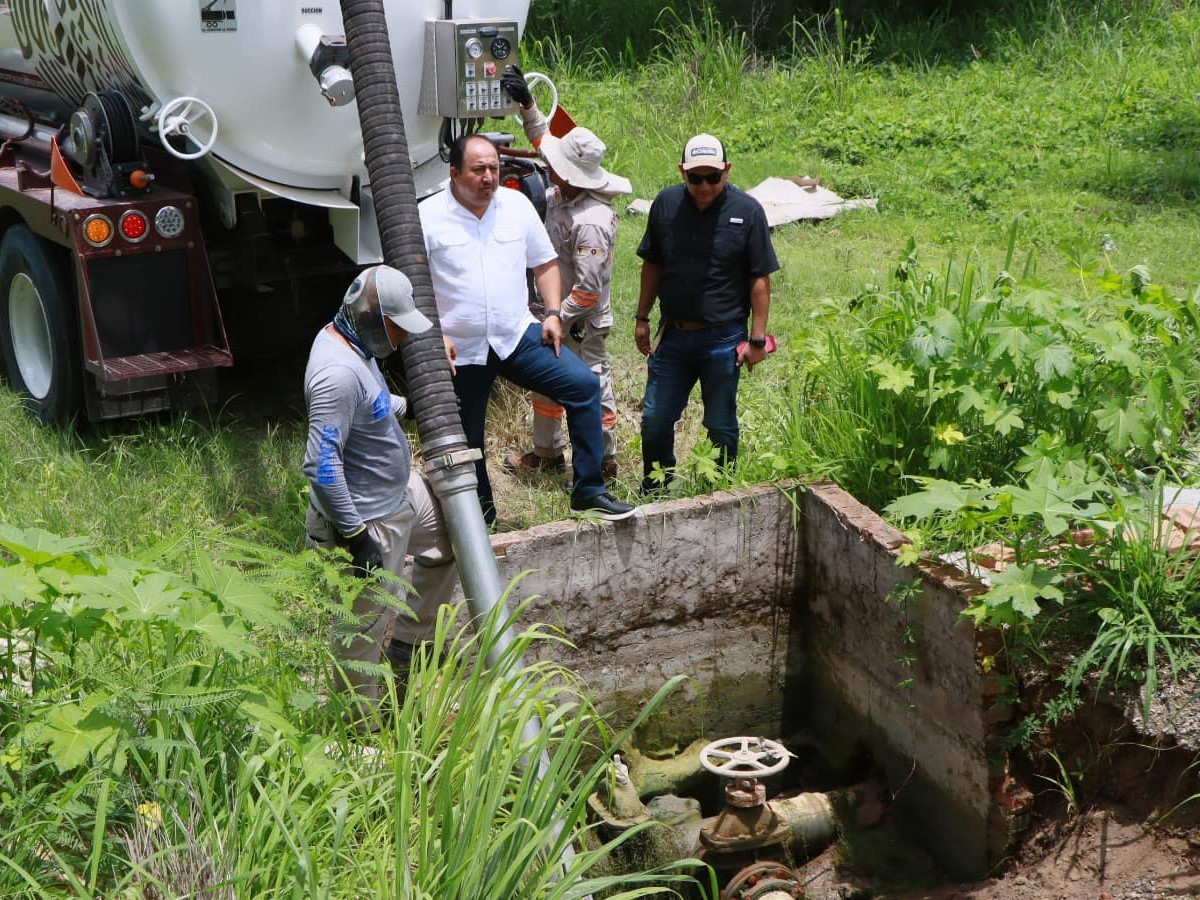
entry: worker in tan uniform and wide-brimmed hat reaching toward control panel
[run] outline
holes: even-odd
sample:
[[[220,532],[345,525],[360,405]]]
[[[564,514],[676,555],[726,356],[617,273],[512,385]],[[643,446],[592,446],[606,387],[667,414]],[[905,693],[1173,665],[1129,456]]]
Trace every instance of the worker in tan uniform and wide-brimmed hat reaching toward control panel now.
[[[601,474],[617,474],[617,398],[608,360],[612,329],[612,257],[617,240],[617,214],[612,199],[632,193],[629,179],[601,167],[605,144],[588,128],[571,128],[562,138],[548,133],[521,70],[508,72],[502,89],[521,110],[526,137],[546,161],[554,187],[546,197],[546,230],[558,253],[563,298],[563,334],[566,346],[600,377],[600,419],[604,426]],[[533,395],[533,450],[504,457],[509,472],[562,472],[566,468],[563,407]]]

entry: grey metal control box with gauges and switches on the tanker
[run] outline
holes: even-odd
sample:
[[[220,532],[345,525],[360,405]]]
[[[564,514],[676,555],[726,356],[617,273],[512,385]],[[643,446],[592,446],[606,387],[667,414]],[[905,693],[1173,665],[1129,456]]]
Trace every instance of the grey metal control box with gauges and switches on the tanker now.
[[[437,19],[425,23],[421,115],[502,116],[516,109],[500,90],[505,66],[521,65],[515,19]]]

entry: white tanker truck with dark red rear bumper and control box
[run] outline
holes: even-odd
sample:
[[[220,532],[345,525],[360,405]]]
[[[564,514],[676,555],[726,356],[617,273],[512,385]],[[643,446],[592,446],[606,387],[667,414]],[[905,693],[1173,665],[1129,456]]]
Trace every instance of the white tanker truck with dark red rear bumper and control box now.
[[[386,0],[416,194],[528,0]],[[0,353],[43,421],[211,400],[380,259],[332,0],[0,0]]]

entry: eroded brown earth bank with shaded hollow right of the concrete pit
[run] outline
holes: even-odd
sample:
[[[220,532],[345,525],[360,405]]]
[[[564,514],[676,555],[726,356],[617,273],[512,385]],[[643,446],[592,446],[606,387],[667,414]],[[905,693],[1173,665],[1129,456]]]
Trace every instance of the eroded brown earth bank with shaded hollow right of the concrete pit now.
[[[1163,674],[1148,722],[1136,692],[1109,696],[1012,757],[1030,817],[995,877],[946,883],[884,812],[804,868],[804,896],[1200,900],[1200,683]]]

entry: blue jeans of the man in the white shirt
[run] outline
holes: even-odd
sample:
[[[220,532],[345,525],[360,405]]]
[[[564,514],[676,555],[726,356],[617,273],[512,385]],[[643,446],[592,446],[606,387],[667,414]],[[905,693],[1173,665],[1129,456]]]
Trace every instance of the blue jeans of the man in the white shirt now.
[[[565,346],[563,355],[556,356],[554,350],[541,342],[541,325],[530,325],[508,359],[488,350],[485,365],[458,366],[454,389],[458,395],[468,446],[484,449],[487,398],[498,374],[520,388],[544,394],[566,410],[566,432],[571,437],[571,464],[575,468],[571,498],[587,502],[604,493],[606,488],[600,475],[604,431],[600,427],[600,379],[596,373]],[[486,457],[475,463],[475,475],[484,521],[492,524],[496,522],[496,502],[487,479]]]

